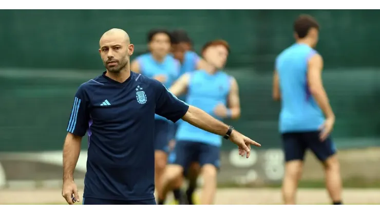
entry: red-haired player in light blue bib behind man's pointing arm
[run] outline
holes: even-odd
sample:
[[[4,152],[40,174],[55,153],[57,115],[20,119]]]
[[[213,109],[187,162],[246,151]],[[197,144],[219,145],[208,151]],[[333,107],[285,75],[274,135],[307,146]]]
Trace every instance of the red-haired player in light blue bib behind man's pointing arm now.
[[[223,40],[206,43],[202,49],[202,56],[213,69],[184,74],[170,87],[170,91],[174,95],[181,95],[187,91],[187,103],[217,118],[238,118],[240,102],[237,82],[220,70],[224,67],[229,50],[229,45]],[[229,108],[226,107],[227,104]],[[159,192],[159,203],[163,203],[173,181],[182,176],[183,171],[192,162],[198,162],[204,180],[201,203],[212,204],[217,185],[222,138],[191,124],[180,123],[176,140],[174,153],[171,154],[174,157],[170,159],[172,162],[166,167],[163,175],[163,190]]]

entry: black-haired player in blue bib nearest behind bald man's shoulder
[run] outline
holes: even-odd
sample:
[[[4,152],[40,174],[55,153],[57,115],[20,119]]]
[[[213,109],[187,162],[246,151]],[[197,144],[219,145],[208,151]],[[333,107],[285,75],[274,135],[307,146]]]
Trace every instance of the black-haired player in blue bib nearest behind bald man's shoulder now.
[[[169,55],[172,37],[167,30],[154,29],[148,33],[149,53],[136,58],[131,70],[162,82],[167,88],[176,80],[180,72],[179,61]],[[168,144],[173,122],[159,115],[155,116],[155,184],[159,189],[160,177],[167,162]]]

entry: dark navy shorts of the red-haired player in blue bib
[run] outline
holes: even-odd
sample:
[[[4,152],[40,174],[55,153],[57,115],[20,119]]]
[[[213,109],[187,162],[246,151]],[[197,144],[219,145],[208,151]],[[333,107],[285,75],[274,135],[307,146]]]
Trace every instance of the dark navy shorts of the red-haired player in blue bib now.
[[[176,164],[187,171],[190,164],[198,162],[202,167],[205,164],[212,164],[219,169],[220,148],[203,142],[178,140],[174,151],[168,158],[169,164]]]

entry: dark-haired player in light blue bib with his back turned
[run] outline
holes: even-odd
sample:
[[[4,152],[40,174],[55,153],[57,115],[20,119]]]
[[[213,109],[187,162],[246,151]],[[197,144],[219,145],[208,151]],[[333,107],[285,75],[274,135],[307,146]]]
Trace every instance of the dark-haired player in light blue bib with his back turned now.
[[[295,204],[307,149],[324,166],[326,187],[333,204],[341,204],[339,163],[330,137],[335,115],[322,85],[323,60],[313,49],[318,42],[318,31],[313,17],[299,16],[294,23],[296,43],[276,59],[273,98],[281,99],[279,130],[286,159],[282,183],[285,204]]]

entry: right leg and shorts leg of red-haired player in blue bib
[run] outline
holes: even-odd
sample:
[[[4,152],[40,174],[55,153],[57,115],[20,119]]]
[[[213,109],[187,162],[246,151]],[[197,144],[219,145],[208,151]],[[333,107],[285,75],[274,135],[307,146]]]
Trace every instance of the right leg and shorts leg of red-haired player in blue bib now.
[[[199,143],[199,164],[203,178],[201,204],[213,204],[219,169],[219,147]]]

